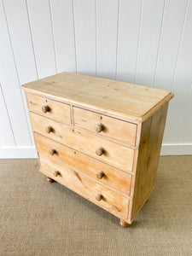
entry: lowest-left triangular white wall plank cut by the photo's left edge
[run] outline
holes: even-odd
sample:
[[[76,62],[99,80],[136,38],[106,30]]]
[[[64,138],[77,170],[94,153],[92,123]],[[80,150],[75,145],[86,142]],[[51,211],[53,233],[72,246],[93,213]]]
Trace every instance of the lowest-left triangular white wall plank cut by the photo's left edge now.
[[[15,147],[15,138],[10,124],[7,106],[4,101],[3,91],[0,84],[0,117],[2,123],[0,125],[0,148]]]

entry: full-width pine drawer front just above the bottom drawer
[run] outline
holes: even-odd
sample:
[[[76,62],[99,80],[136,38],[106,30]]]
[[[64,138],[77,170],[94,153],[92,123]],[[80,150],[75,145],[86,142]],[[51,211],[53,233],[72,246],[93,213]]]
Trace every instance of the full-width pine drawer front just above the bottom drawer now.
[[[113,166],[108,166],[101,161],[94,160],[60,143],[55,143],[55,141],[49,140],[38,133],[34,135],[38,153],[41,158],[50,160],[53,163],[57,161],[61,163],[61,165],[64,164],[75,171],[82,172],[94,178],[123,195],[130,195],[131,174],[119,171]],[[51,151],[53,149],[54,154],[52,154]]]

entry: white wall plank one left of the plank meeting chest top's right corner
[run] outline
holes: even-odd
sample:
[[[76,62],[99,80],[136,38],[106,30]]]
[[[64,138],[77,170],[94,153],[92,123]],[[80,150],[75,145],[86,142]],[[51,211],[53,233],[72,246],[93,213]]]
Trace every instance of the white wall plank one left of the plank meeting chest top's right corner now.
[[[153,86],[165,0],[143,1],[136,83]]]

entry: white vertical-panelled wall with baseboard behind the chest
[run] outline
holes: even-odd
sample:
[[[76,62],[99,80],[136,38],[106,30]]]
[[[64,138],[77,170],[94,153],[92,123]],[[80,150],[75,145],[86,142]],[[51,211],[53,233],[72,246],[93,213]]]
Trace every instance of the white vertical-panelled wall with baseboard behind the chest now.
[[[0,0],[0,158],[37,156],[20,84],[63,71],[172,90],[161,154],[192,154],[191,0]]]

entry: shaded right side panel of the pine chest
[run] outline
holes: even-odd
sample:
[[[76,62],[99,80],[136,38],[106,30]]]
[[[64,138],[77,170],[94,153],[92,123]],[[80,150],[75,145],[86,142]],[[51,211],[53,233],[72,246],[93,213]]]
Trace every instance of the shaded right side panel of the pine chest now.
[[[168,102],[142,125],[131,219],[135,218],[140,207],[147,201],[148,196],[154,189],[167,108]]]

